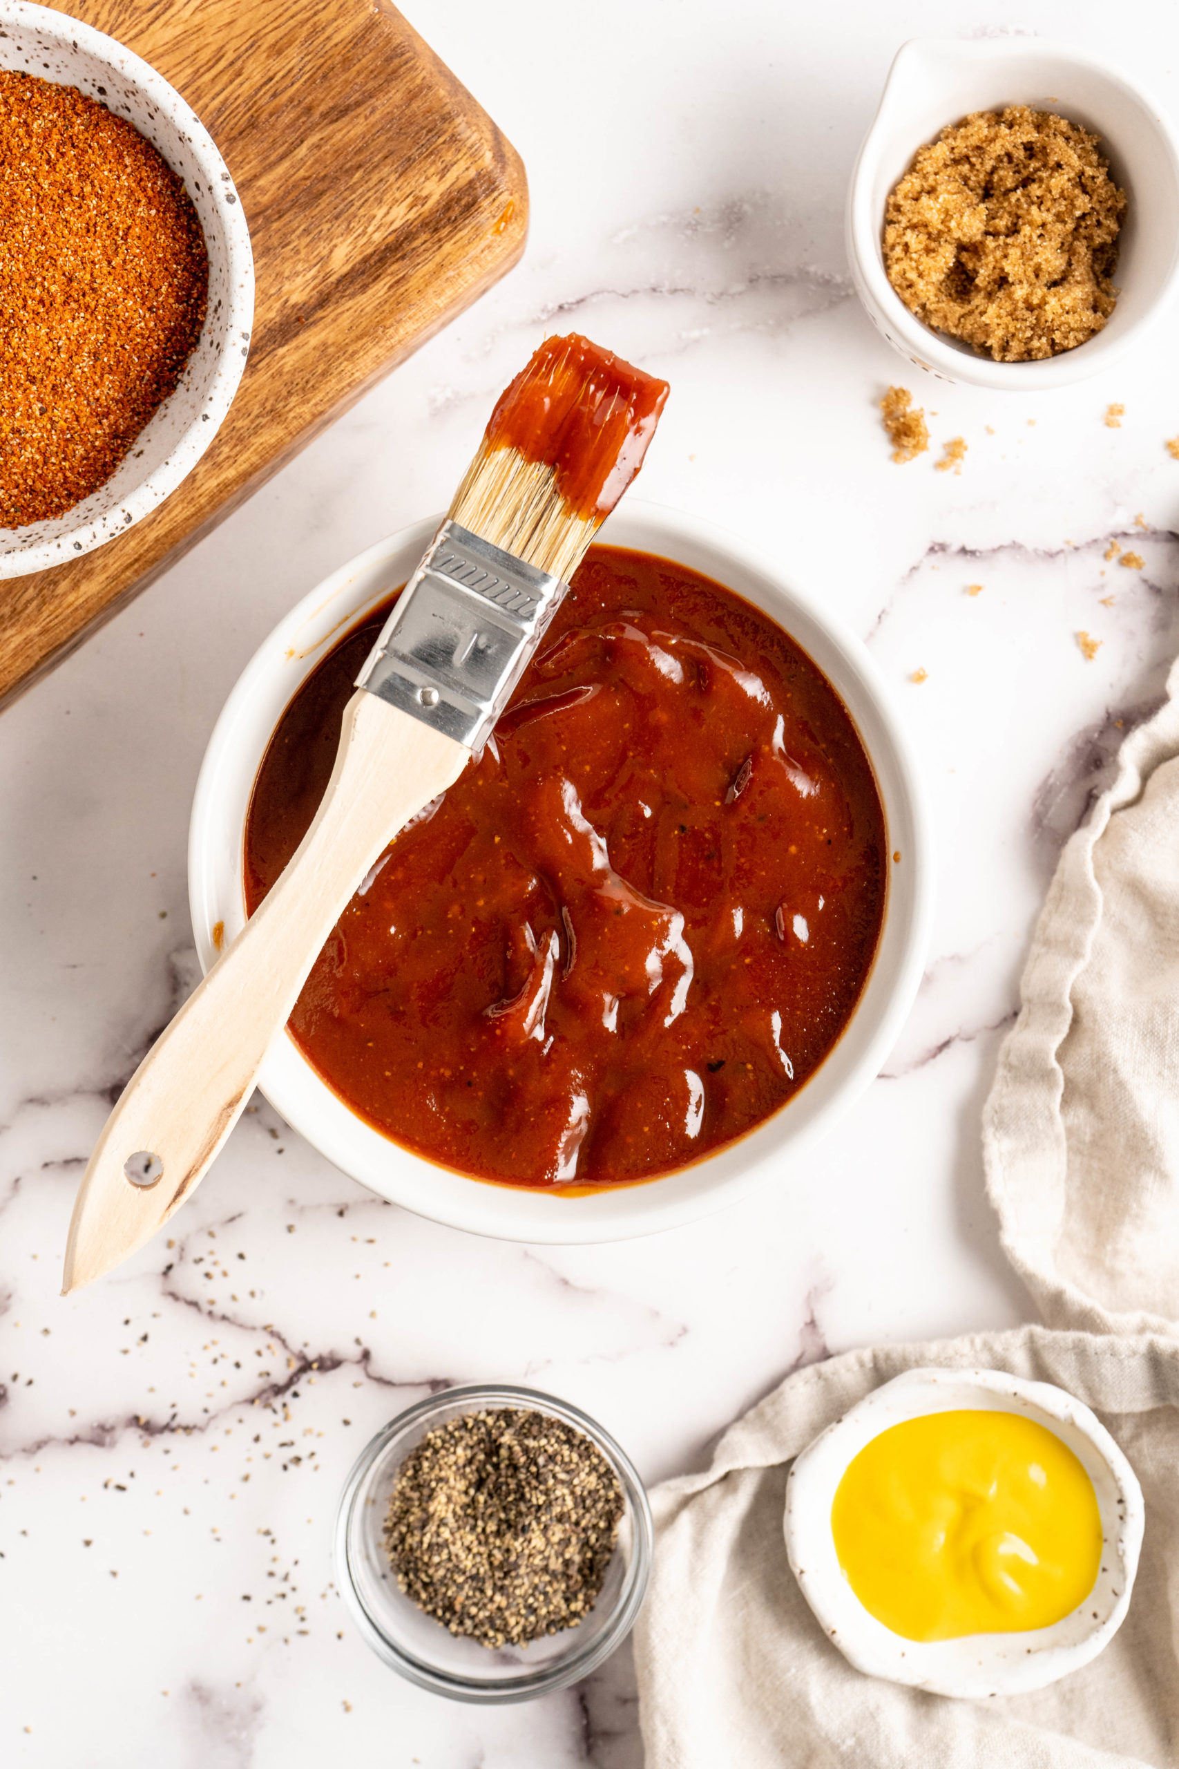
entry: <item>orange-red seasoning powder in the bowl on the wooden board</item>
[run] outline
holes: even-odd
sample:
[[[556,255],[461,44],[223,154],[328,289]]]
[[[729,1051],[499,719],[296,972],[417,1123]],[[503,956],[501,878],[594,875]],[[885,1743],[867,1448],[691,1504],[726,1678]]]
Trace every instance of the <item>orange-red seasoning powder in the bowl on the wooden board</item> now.
[[[182,180],[74,87],[0,71],[0,527],[60,517],[115,472],[205,322]]]

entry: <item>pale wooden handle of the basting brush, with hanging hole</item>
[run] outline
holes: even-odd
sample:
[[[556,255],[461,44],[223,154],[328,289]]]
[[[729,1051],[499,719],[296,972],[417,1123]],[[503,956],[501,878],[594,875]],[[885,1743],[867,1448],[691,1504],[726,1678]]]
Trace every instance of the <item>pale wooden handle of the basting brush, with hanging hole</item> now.
[[[69,1224],[65,1295],[141,1247],[193,1194],[357,884],[468,761],[461,743],[357,688],[315,823],[106,1120]]]

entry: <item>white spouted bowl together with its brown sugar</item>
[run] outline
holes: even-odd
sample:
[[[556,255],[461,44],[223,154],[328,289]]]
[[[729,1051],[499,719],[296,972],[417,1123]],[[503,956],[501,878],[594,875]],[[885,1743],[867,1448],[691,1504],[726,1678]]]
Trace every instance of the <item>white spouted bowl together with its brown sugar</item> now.
[[[942,380],[1036,393],[1108,368],[1179,287],[1179,138],[1103,62],[919,37],[847,205],[859,297]]]

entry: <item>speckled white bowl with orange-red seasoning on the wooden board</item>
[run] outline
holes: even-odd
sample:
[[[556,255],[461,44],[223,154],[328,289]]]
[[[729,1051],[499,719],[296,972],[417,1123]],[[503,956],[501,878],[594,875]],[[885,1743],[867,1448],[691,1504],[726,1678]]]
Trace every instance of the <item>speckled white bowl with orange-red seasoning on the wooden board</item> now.
[[[0,0],[0,577],[150,515],[205,453],[249,352],[230,172],[113,37]]]

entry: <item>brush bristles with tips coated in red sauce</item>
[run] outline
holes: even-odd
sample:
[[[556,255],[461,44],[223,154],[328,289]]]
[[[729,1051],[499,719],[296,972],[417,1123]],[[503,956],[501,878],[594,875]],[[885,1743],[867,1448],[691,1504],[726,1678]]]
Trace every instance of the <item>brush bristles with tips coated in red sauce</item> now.
[[[491,412],[451,518],[567,582],[642,467],[666,394],[589,338],[548,338]]]

